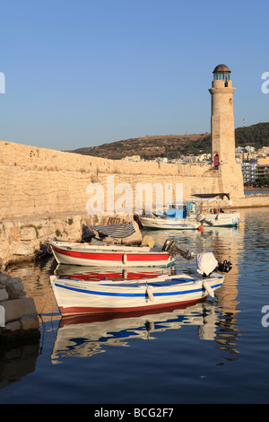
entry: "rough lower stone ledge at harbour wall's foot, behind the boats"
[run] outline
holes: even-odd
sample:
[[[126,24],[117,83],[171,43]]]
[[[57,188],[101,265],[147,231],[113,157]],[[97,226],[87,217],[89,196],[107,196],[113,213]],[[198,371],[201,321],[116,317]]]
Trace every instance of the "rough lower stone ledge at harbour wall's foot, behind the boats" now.
[[[0,270],[10,263],[41,258],[48,252],[49,239],[80,242],[89,225],[132,220],[133,215],[111,217],[72,212],[0,220]]]

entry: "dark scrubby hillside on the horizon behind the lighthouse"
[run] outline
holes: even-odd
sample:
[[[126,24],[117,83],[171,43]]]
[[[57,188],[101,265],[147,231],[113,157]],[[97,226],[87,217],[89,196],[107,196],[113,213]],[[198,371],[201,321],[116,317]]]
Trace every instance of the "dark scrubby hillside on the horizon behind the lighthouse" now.
[[[269,123],[258,123],[235,129],[236,146],[255,146],[256,149],[269,145]],[[79,148],[76,154],[92,155],[120,160],[130,155],[152,160],[157,157],[179,158],[181,155],[211,152],[211,135],[166,135],[140,136],[93,147]]]

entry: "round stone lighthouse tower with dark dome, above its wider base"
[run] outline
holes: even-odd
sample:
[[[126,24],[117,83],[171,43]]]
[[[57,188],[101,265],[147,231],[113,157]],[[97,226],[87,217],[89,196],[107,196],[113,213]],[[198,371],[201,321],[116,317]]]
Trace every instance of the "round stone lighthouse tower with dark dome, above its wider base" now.
[[[235,137],[233,117],[233,92],[230,69],[225,65],[216,66],[213,70],[211,134],[212,161],[219,155],[221,164],[235,163]]]

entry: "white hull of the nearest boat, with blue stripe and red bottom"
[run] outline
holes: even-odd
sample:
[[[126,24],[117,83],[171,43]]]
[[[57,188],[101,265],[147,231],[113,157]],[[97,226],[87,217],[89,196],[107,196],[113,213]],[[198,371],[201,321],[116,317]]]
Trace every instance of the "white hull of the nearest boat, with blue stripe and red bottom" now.
[[[219,288],[224,277],[161,276],[143,281],[87,282],[50,277],[56,303],[63,316],[156,310],[194,303]],[[206,281],[204,281],[206,280]],[[205,284],[206,283],[206,286]]]

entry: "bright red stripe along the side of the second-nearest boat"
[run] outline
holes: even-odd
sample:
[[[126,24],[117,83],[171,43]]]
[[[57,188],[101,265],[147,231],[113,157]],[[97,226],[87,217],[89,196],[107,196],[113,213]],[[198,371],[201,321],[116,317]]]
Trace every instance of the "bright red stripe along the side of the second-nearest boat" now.
[[[95,252],[75,252],[75,251],[62,251],[56,247],[53,247],[56,253],[65,255],[67,257],[74,257],[80,259],[95,259],[95,260],[107,260],[107,261],[119,261],[121,262],[124,258],[124,255],[127,257],[128,262],[133,261],[160,261],[164,259],[169,259],[169,254],[152,254],[152,253],[143,253],[143,254],[129,254],[127,252],[120,253],[95,253]]]

